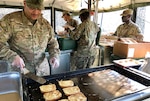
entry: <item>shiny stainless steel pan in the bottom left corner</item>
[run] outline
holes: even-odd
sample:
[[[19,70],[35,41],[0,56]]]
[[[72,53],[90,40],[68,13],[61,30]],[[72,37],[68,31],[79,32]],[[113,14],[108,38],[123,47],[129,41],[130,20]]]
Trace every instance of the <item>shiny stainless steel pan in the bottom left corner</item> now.
[[[0,101],[23,101],[21,75],[18,72],[0,73]]]

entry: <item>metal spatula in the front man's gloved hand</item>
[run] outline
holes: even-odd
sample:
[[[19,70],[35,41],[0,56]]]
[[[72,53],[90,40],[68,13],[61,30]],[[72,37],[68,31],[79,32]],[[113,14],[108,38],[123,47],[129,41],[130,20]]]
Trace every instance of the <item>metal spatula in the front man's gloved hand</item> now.
[[[27,78],[30,78],[40,84],[46,83],[46,80],[44,78],[36,76],[34,73],[31,73],[27,68],[22,68],[22,72]]]

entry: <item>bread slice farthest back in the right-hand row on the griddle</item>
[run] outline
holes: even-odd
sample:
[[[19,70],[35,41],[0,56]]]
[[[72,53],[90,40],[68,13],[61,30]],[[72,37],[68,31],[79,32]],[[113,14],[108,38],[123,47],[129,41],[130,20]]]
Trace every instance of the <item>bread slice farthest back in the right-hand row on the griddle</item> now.
[[[74,86],[74,82],[72,80],[61,80],[58,81],[58,84],[62,88]]]

